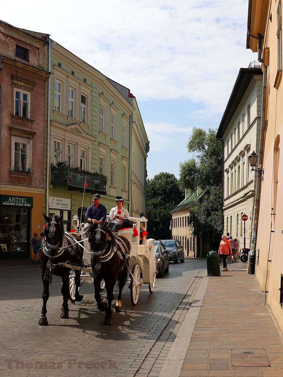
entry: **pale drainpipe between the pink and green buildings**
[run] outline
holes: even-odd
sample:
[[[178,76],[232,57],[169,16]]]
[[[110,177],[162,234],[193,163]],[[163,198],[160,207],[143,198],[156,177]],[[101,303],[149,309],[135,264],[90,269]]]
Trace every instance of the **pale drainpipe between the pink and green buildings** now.
[[[51,39],[48,38],[48,70],[51,72]],[[45,210],[46,216],[49,216],[49,169],[50,169],[50,88],[51,88],[51,75],[48,78],[47,89],[47,153],[46,153],[46,202]]]

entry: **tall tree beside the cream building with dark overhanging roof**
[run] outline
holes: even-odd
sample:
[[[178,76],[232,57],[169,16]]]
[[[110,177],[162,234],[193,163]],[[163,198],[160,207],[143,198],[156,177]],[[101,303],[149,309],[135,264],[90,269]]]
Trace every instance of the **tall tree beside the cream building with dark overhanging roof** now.
[[[180,163],[180,184],[191,192],[203,192],[189,209],[188,222],[194,235],[218,241],[222,231],[222,144],[216,139],[216,131],[194,127],[187,144],[194,157]]]

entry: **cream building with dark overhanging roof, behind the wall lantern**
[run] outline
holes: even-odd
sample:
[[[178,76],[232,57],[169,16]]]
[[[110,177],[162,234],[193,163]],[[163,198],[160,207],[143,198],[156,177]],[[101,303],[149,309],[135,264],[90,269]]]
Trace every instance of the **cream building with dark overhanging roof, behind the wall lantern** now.
[[[254,67],[255,66],[255,67]],[[224,233],[237,238],[239,249],[250,247],[255,186],[249,155],[258,154],[261,120],[262,71],[258,62],[241,68],[217,131],[223,140]],[[246,214],[248,220],[241,220]]]

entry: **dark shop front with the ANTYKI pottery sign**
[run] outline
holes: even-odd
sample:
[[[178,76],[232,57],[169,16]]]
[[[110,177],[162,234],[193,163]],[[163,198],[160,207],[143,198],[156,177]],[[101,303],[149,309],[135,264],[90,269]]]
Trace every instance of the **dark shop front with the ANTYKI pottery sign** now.
[[[27,259],[33,197],[0,195],[0,259]]]

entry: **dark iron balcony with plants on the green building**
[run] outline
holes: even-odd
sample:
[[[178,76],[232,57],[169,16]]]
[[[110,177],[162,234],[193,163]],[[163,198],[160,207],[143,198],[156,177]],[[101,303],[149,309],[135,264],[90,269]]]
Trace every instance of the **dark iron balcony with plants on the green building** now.
[[[51,167],[51,184],[67,185],[68,190],[83,191],[86,179],[86,192],[95,192],[98,194],[106,194],[107,177],[84,173],[81,170],[72,168]]]

